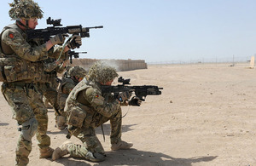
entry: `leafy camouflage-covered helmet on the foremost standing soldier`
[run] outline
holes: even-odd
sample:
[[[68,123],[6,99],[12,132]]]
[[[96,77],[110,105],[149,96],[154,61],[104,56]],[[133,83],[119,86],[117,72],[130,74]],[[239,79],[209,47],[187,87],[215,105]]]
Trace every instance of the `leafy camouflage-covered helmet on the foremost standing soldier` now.
[[[43,18],[43,11],[32,0],[15,0],[14,3],[9,3],[11,9],[9,9],[9,16],[12,20],[18,19],[32,19]]]

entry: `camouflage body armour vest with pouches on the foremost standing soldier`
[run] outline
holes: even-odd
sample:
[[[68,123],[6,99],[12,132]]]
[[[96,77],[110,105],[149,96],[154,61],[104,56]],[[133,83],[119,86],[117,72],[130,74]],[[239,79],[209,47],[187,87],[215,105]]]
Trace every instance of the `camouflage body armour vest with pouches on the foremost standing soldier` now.
[[[19,26],[13,24],[5,26],[3,31],[7,29],[12,29],[18,31],[22,37],[26,38],[26,33],[22,31]],[[2,37],[3,31],[1,33],[0,39]],[[32,45],[38,45],[39,43],[35,40],[28,42]],[[29,60],[21,59],[20,56],[15,54],[15,52],[7,48],[12,54],[3,54],[3,47],[9,47],[4,45],[1,39],[1,49],[0,49],[0,82],[12,83],[16,81],[26,81],[32,82],[39,79],[44,73],[44,65],[42,62],[32,62]]]

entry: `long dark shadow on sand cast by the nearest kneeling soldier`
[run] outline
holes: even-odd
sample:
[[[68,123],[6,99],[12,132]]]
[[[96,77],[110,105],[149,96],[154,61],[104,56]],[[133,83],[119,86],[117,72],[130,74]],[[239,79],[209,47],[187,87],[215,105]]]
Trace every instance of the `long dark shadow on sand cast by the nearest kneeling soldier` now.
[[[63,165],[139,165],[139,166],[192,166],[193,163],[205,163],[214,160],[218,156],[175,158],[160,152],[143,152],[136,149],[122,150],[118,152],[106,152],[107,159],[102,163],[90,163],[80,158],[63,157],[55,161]]]

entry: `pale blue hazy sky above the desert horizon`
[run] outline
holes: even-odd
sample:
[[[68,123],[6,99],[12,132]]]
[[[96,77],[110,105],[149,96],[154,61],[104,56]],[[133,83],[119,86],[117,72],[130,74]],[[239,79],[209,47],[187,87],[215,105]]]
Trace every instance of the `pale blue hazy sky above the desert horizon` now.
[[[12,23],[9,4],[0,6],[1,28]],[[90,30],[81,58],[146,60],[247,59],[256,54],[254,0],[73,0],[36,1],[46,19]]]

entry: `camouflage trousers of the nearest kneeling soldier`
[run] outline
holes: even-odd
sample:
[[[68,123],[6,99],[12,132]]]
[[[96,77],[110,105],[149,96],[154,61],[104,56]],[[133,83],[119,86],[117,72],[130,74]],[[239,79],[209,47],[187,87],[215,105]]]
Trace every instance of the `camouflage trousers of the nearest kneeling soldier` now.
[[[98,140],[96,136],[95,129],[96,127],[101,126],[103,123],[106,123],[109,120],[111,128],[111,144],[119,142],[121,140],[122,134],[122,111],[119,107],[119,111],[112,117],[103,117],[101,114],[97,114],[97,116],[93,117],[95,119],[92,119],[91,122],[88,122],[86,120],[87,117],[85,117],[84,124],[81,128],[68,126],[68,130],[72,135],[79,138],[79,140],[83,142],[84,146],[86,147],[86,150],[88,150],[89,152],[105,154],[105,151],[102,147],[102,143],[100,142],[100,140]],[[81,146],[80,148],[84,149],[83,146]],[[69,149],[70,154],[75,154],[76,151],[76,149]],[[86,153],[84,153],[83,155],[85,154]]]

